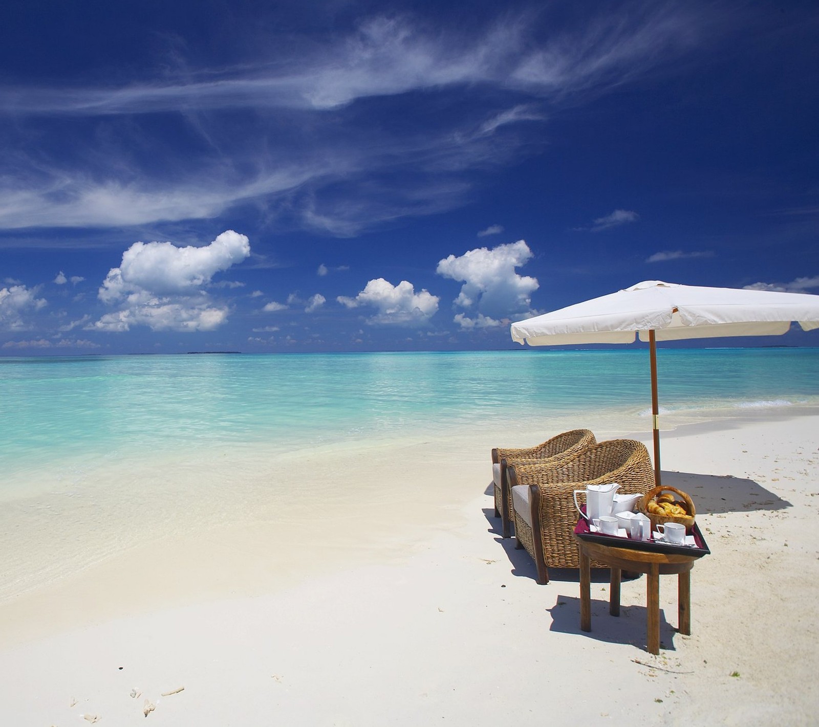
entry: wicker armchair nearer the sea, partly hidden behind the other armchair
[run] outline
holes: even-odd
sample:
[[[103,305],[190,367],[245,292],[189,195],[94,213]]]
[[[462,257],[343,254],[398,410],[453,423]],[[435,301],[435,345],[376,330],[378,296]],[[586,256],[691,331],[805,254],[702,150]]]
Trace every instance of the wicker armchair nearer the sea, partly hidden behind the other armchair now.
[[[492,482],[495,485],[495,517],[500,517],[500,531],[509,537],[512,522],[512,488],[506,468],[515,462],[549,463],[559,465],[582,449],[595,444],[595,436],[588,429],[572,429],[553,436],[541,445],[512,449],[492,449]]]

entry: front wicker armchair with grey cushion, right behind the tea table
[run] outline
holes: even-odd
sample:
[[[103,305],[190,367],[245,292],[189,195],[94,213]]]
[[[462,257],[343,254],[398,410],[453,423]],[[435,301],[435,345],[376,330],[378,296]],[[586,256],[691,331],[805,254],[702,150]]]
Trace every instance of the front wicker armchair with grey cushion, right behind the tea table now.
[[[654,487],[649,452],[635,440],[600,442],[557,466],[512,464],[507,476],[513,493],[516,547],[525,548],[534,559],[540,584],[549,582],[547,568],[580,567],[572,535],[579,517],[574,490],[617,482],[621,493],[645,494]]]

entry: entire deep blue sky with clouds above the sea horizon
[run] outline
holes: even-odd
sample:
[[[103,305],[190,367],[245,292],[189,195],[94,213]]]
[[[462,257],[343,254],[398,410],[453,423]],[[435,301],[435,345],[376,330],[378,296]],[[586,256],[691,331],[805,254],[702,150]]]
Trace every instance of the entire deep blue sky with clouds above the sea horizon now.
[[[819,293],[817,38],[816,2],[5,0],[0,355],[504,350],[644,280]]]

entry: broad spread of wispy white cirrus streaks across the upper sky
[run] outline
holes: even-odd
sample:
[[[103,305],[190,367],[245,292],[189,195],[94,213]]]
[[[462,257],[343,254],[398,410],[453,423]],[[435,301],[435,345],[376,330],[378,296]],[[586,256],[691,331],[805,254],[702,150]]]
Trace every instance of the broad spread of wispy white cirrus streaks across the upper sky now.
[[[0,228],[127,227],[250,205],[280,227],[344,237],[452,209],[487,170],[542,146],[549,106],[605,93],[701,38],[701,10],[629,7],[559,32],[532,12],[470,31],[377,16],[176,77],[2,87]],[[418,94],[443,103],[432,124]],[[396,110],[410,123],[383,124]],[[16,143],[35,135],[54,142]]]

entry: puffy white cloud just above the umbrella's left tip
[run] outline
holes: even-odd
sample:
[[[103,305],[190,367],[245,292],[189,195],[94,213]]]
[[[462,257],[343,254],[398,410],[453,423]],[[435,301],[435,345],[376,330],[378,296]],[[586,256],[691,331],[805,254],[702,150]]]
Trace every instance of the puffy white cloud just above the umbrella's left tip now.
[[[526,242],[518,240],[491,250],[479,247],[460,257],[450,255],[439,261],[437,273],[464,282],[455,305],[476,309],[489,318],[530,312],[536,278],[518,275],[516,268],[532,258]],[[463,323],[462,323],[463,325]]]

